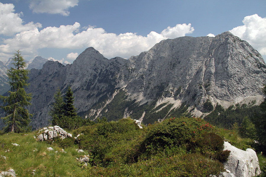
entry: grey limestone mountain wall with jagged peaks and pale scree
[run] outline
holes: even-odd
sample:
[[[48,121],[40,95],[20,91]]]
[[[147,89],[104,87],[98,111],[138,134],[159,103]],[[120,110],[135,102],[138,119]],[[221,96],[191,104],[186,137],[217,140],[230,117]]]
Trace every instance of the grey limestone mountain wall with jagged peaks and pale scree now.
[[[261,99],[266,66],[246,41],[224,32],[163,40],[129,60],[108,60],[89,47],[73,64],[48,61],[41,70],[32,69],[29,77],[27,92],[33,93],[29,110],[34,114],[32,125],[38,128],[48,124],[56,88],[65,93],[71,86],[78,114],[90,119],[117,109],[117,117],[145,120],[147,112],[160,104],[171,104],[172,110],[182,103],[200,116],[217,103],[228,106]],[[146,107],[138,109],[141,105]]]

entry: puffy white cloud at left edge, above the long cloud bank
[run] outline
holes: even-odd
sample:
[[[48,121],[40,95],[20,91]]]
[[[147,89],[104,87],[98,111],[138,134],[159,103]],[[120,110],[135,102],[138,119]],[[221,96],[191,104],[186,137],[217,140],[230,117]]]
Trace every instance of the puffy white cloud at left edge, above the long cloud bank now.
[[[29,22],[23,24],[20,18],[23,13],[14,13],[13,4],[3,4],[0,2],[0,34],[12,36],[18,32],[33,30],[42,27],[40,23]]]

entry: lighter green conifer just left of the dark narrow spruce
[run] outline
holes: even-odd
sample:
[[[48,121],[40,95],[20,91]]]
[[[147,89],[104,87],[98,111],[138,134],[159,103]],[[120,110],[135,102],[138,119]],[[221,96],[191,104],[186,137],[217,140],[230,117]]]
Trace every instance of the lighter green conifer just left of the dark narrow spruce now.
[[[64,98],[62,96],[61,90],[58,88],[56,93],[54,94],[53,107],[49,111],[49,116],[51,116],[52,125],[59,125],[62,117],[64,116]]]

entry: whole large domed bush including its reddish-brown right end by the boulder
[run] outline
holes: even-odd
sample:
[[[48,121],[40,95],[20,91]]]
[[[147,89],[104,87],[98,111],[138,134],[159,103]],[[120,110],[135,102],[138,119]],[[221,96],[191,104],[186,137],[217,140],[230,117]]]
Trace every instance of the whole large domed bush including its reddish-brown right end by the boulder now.
[[[228,153],[223,152],[223,139],[215,134],[216,129],[212,125],[202,119],[170,118],[150,125],[148,129],[135,154],[135,160],[138,157],[150,158],[153,154],[175,146],[187,146],[188,151],[200,152],[220,161],[228,157]]]

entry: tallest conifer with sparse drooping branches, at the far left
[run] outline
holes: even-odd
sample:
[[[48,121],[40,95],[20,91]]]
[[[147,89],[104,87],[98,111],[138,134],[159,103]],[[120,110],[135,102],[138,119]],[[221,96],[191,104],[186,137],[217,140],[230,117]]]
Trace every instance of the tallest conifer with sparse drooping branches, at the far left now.
[[[14,53],[12,58],[14,68],[7,70],[7,76],[9,78],[9,85],[11,90],[8,91],[9,96],[0,96],[4,106],[1,106],[6,112],[4,120],[6,127],[5,131],[21,132],[30,123],[30,117],[32,114],[26,109],[27,106],[31,105],[31,94],[27,94],[25,87],[29,86],[27,83],[29,70],[24,69],[26,63],[19,50]]]

